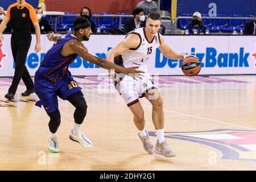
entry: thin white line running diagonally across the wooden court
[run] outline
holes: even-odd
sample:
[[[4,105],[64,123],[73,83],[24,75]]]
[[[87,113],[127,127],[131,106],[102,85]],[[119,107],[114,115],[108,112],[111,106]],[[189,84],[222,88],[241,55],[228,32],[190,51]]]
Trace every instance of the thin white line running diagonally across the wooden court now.
[[[108,97],[96,96],[96,95],[87,94],[87,93],[85,93],[85,96],[93,96],[93,97],[98,97],[98,98],[105,98],[106,100],[112,100],[112,101],[117,101],[117,102],[124,102],[123,100],[117,100],[117,99],[108,98]],[[144,105],[144,104],[142,106],[152,108],[151,106]],[[176,112],[176,111],[172,111],[172,110],[166,110],[166,109],[164,109],[164,111],[169,112],[169,113],[185,115],[185,116],[188,116],[188,117],[204,119],[204,120],[207,120],[207,121],[210,121],[210,122],[216,122],[216,123],[222,123],[222,124],[230,125],[230,126],[242,127],[244,129],[249,129],[249,130],[256,130],[256,129],[253,129],[251,127],[245,127],[245,126],[240,126],[240,125],[234,125],[234,124],[227,123],[227,122],[217,121],[216,119],[203,118],[203,117],[199,117],[199,116],[196,116],[196,115],[185,114],[185,113],[180,113],[180,112]]]

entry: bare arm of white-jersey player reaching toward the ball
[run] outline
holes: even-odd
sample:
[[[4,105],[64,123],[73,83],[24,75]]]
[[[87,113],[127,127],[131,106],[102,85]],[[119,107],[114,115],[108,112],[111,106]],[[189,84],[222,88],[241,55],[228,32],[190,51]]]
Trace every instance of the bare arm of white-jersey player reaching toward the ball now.
[[[193,56],[193,55],[183,55],[182,53],[179,53],[174,49],[172,49],[170,46],[168,46],[166,42],[164,42],[163,35],[160,35],[160,39],[161,39],[161,44],[159,46],[159,50],[162,52],[162,54],[165,57],[168,57],[169,59],[177,60],[177,59],[185,59],[186,57]],[[193,57],[196,57],[196,56],[193,56]],[[196,59],[198,58],[196,57]]]

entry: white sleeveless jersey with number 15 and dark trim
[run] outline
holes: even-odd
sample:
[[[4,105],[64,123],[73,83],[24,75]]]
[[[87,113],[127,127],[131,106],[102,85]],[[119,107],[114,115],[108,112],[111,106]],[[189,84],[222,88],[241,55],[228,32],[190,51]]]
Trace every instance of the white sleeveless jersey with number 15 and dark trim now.
[[[129,32],[129,34],[137,34],[141,39],[141,43],[137,48],[131,48],[122,53],[122,61],[124,67],[136,67],[138,70],[147,72],[147,61],[160,46],[159,32],[155,34],[155,38],[148,40],[145,32],[145,27]],[[127,35],[129,35],[127,34]]]

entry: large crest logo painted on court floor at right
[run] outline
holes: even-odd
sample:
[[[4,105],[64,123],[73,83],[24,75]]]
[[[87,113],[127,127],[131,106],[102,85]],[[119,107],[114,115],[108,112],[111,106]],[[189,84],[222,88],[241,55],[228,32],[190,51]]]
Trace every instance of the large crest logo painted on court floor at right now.
[[[149,135],[156,137],[155,132]],[[166,138],[195,142],[216,148],[220,159],[256,162],[256,130],[218,129],[209,131],[165,132]]]

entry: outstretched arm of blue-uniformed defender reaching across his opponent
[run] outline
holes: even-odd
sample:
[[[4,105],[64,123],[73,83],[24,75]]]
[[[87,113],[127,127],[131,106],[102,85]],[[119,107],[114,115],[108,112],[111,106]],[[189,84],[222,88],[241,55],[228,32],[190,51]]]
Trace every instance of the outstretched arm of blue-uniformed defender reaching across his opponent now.
[[[101,68],[104,68],[104,69],[115,69],[115,71],[117,71],[117,72],[122,72],[131,77],[138,77],[138,78],[141,78],[138,73],[144,73],[142,71],[137,71],[136,69],[138,67],[124,68],[124,67],[120,67],[119,65],[110,62],[109,60],[102,59],[102,58],[88,52],[88,49],[84,46],[84,44],[79,43],[76,40],[71,40],[68,43],[66,43],[61,52],[68,52],[68,50],[65,51],[65,49],[67,49],[67,48],[71,50],[71,52],[69,52],[69,55],[71,53],[76,53],[77,55],[81,56],[82,59],[85,59],[91,63],[97,64]]]

